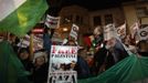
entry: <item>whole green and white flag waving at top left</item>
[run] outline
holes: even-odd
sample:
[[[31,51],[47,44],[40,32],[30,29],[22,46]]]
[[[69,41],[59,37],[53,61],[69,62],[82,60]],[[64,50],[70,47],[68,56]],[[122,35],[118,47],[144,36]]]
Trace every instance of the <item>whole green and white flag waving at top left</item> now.
[[[23,37],[41,20],[47,3],[46,0],[0,0],[0,32]]]

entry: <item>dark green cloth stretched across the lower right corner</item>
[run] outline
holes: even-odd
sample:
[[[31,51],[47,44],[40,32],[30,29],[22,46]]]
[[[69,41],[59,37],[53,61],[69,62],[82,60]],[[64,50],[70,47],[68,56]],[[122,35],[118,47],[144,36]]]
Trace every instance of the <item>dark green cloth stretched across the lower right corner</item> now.
[[[148,83],[148,58],[130,55],[101,75],[78,83]]]

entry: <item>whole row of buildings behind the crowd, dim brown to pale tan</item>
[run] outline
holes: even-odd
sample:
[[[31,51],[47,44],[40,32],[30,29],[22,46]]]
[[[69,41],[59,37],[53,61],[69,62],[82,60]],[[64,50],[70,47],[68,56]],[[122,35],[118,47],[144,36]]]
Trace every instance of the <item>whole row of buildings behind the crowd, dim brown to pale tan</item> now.
[[[108,23],[119,27],[126,22],[127,31],[136,22],[148,24],[148,1],[137,0],[121,3],[118,8],[109,8],[97,11],[88,11],[80,6],[64,7],[59,13],[61,17],[61,29],[66,28],[64,38],[70,33],[72,23],[80,27],[80,39],[84,34],[93,33],[97,25],[102,28]],[[62,31],[62,30],[61,30]],[[82,40],[81,40],[82,41]]]

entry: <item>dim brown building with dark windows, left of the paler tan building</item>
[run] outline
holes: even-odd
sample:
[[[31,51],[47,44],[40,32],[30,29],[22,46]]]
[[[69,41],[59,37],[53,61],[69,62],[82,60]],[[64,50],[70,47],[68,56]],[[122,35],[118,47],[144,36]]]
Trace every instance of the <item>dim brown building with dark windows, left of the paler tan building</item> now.
[[[125,22],[125,15],[121,8],[110,8],[97,11],[88,11],[78,6],[65,7],[60,12],[61,27],[76,23],[81,33],[92,33],[97,25],[115,23],[116,27]]]

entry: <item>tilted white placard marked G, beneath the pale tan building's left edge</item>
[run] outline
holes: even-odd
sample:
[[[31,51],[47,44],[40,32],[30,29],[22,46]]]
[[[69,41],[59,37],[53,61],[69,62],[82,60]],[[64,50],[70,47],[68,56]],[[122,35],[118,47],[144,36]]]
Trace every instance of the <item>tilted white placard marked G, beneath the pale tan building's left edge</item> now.
[[[117,34],[124,39],[126,37],[126,23],[117,28]]]

